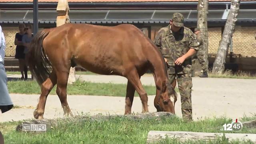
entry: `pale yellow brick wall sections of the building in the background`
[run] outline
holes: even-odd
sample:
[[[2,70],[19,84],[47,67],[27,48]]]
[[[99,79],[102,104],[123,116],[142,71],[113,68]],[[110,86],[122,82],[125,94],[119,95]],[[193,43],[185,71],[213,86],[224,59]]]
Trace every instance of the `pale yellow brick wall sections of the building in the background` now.
[[[6,56],[15,56],[14,39],[16,32],[19,32],[17,27],[2,26],[4,36],[6,38]],[[160,27],[151,28],[151,40],[154,40]],[[148,30],[142,28],[143,32],[147,35]],[[256,57],[256,26],[254,27],[241,27],[236,26],[233,35],[233,52],[234,54],[241,54],[242,57]],[[208,28],[208,53],[216,54],[218,45],[221,40],[221,28]],[[230,50],[230,49],[229,49]]]

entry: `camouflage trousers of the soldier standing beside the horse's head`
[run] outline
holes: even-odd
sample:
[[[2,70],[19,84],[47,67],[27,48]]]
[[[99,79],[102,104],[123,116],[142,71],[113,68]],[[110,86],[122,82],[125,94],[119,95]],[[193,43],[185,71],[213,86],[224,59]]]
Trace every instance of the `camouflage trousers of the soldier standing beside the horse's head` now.
[[[182,117],[186,120],[192,120],[192,102],[191,102],[191,88],[192,77],[188,74],[169,74],[169,80],[172,84],[177,78],[178,88],[180,90],[181,111]]]

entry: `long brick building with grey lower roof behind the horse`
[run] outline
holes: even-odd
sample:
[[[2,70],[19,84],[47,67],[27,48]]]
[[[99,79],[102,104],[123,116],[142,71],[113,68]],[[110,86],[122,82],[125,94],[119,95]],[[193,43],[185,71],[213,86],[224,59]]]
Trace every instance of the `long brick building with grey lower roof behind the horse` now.
[[[58,0],[38,0],[39,29],[56,27]],[[184,15],[184,25],[194,30],[197,24],[197,0],[70,0],[70,21],[114,26],[122,23],[134,24],[152,40],[156,32],[168,25],[174,12]],[[6,36],[6,57],[15,55],[14,36],[18,24],[32,24],[32,0],[1,0],[0,24]],[[222,37],[230,1],[209,0],[208,54],[209,66],[214,61]],[[256,0],[241,0],[238,20],[229,50],[239,58],[240,70],[256,69]],[[246,58],[246,59],[245,59]],[[229,60],[227,60],[227,63]],[[248,62],[250,65],[248,65]],[[245,64],[246,63],[246,64]]]

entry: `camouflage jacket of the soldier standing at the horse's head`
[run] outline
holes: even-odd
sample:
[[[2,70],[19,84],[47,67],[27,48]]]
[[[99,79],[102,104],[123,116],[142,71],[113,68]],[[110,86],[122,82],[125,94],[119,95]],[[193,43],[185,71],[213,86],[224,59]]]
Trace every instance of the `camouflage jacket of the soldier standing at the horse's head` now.
[[[186,59],[181,66],[174,64],[176,59],[186,54],[190,48],[198,50],[196,35],[189,28],[184,26],[174,33],[170,30],[170,25],[163,27],[158,31],[154,44],[160,48],[164,58],[168,60],[170,66],[169,74],[186,74],[191,72],[191,58]]]

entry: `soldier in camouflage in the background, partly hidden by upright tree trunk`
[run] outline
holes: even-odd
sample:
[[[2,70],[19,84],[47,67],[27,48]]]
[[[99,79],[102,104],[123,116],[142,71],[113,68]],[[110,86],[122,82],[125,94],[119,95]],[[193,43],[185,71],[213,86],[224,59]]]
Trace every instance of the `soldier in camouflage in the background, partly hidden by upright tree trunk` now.
[[[198,52],[196,54],[194,54],[194,56],[192,56],[192,76],[194,76],[194,69],[195,67],[193,65],[195,65],[196,63],[196,59],[198,58],[198,61],[201,65],[201,68],[203,70],[203,74],[200,76],[201,78],[207,78],[208,74],[207,74],[207,67],[206,67],[206,62],[204,60],[204,40],[201,36],[201,32],[200,32],[200,28],[195,28],[195,34],[197,37],[197,41],[198,41]]]

